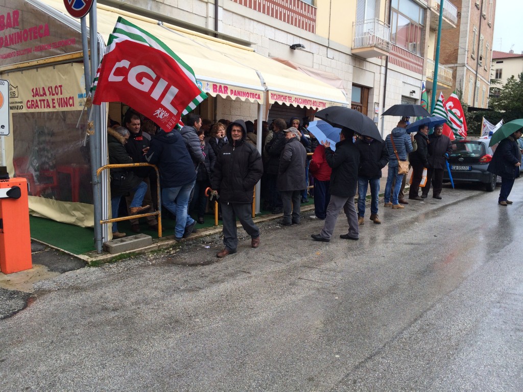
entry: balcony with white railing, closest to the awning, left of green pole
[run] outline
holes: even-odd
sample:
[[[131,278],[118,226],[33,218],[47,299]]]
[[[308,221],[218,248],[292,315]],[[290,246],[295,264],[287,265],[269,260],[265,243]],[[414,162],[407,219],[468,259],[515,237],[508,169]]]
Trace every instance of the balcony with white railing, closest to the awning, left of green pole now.
[[[390,26],[379,19],[354,22],[352,53],[363,59],[386,56],[390,51],[390,35]]]

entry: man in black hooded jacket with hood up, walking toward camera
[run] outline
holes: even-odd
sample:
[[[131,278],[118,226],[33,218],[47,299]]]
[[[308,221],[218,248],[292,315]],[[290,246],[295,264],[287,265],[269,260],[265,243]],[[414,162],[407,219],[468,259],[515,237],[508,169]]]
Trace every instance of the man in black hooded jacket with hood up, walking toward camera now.
[[[238,234],[236,217],[251,236],[251,247],[260,243],[258,226],[251,216],[254,186],[263,175],[261,155],[255,146],[245,142],[246,127],[236,120],[227,127],[228,144],[218,152],[214,164],[212,189],[219,192],[223,218],[223,245],[218,257],[236,253]]]

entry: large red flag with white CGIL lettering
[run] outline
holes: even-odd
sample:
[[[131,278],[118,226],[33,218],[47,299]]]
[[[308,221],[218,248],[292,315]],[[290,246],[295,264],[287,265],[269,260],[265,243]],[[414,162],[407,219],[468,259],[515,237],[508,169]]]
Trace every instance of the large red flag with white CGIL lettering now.
[[[121,101],[172,130],[201,90],[165,52],[131,40],[113,45],[100,64],[93,103]]]

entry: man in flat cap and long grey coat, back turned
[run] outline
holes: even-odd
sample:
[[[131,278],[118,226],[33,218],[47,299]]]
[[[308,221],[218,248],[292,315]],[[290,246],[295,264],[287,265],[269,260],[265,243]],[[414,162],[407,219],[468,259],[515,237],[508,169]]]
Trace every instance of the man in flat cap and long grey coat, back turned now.
[[[278,190],[283,204],[283,219],[280,224],[290,226],[300,222],[300,194],[305,183],[307,152],[298,139],[297,128],[283,130],[286,143],[280,155],[278,167]],[[291,216],[292,212],[292,216]]]

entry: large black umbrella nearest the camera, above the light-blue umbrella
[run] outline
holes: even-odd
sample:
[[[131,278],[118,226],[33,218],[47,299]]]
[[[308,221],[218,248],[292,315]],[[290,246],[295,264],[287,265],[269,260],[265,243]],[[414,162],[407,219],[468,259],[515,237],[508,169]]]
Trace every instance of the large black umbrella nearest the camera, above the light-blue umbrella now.
[[[345,126],[362,136],[382,140],[376,124],[374,124],[369,117],[365,116],[365,114],[357,110],[343,106],[331,106],[316,112],[314,116],[331,123],[333,126],[338,126],[339,128]]]

